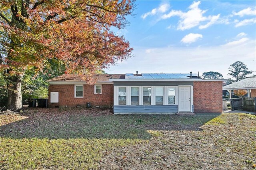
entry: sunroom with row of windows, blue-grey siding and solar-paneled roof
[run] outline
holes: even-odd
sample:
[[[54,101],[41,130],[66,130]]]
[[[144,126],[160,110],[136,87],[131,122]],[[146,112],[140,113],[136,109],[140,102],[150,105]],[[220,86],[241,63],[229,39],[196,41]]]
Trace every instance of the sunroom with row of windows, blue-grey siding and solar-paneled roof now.
[[[193,78],[192,78],[193,77]],[[194,112],[190,74],[126,74],[114,82],[114,113]]]

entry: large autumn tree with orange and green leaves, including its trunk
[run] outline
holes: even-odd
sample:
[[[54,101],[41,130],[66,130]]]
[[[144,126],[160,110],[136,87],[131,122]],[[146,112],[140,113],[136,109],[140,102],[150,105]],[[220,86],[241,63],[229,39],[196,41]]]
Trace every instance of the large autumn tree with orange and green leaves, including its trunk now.
[[[2,0],[0,3],[0,69],[7,81],[8,109],[22,107],[26,69],[43,71],[48,59],[65,64],[66,73],[95,70],[131,55],[132,48],[111,28],[125,28],[131,0]]]

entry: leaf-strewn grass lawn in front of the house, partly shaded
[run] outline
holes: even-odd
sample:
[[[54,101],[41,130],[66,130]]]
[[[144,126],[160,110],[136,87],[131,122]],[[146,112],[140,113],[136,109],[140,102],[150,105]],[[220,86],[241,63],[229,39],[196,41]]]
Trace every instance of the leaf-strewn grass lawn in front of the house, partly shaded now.
[[[26,109],[0,126],[2,169],[256,168],[253,115]]]

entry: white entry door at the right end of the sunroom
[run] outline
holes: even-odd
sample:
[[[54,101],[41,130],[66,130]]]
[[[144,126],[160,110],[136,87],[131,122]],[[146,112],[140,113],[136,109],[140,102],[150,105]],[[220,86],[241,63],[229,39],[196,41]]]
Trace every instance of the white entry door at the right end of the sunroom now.
[[[179,86],[179,112],[190,112],[190,86]]]

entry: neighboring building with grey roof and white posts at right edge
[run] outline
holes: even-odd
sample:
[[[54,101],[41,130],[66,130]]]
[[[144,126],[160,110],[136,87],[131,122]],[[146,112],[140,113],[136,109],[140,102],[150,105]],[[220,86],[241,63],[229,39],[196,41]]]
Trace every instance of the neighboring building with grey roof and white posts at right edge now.
[[[248,90],[248,97],[256,97],[256,77],[242,79],[230,85],[222,87],[229,92],[229,98],[232,98],[232,90]]]

